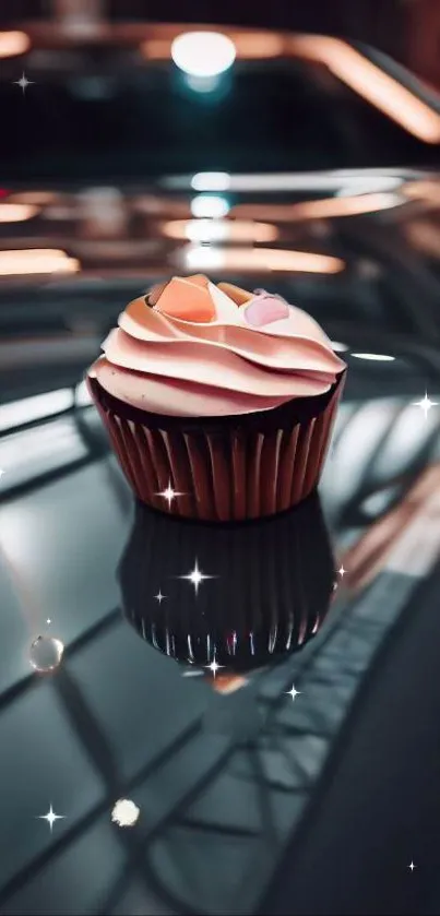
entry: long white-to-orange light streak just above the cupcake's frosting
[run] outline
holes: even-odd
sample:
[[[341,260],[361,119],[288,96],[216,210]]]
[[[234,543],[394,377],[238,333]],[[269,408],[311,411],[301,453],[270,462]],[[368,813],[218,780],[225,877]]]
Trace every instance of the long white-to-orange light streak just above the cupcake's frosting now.
[[[190,269],[242,271],[298,271],[301,273],[335,274],[344,270],[344,261],[328,254],[309,251],[288,251],[282,248],[215,248],[194,246],[185,252]]]

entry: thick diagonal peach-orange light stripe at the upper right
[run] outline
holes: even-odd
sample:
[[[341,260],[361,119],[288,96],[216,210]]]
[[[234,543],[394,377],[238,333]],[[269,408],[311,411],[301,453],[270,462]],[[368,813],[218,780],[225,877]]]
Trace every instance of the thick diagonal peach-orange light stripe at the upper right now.
[[[340,38],[299,35],[294,53],[320,61],[343,83],[425,143],[440,142],[440,115]]]

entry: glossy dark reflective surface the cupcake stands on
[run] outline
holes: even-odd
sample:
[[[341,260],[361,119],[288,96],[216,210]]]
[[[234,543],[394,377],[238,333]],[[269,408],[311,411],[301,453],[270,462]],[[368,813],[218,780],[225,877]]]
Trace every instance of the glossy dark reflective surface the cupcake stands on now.
[[[1,253],[62,249],[80,269],[0,286],[4,914],[439,912],[440,180],[395,168],[230,182],[222,231],[235,219],[250,233],[245,253],[233,246],[239,265],[224,236],[188,261],[188,239],[164,233],[191,217],[191,176],[8,198],[38,210],[2,224]],[[255,266],[260,223],[273,229],[260,247],[338,270]],[[189,269],[285,295],[348,365],[319,500],[262,535],[252,523],[249,540],[246,526],[229,544],[226,528],[202,537],[135,513],[82,384],[127,300]],[[425,416],[426,393],[438,403]],[[198,595],[178,579],[195,555],[215,576]],[[278,626],[298,608],[307,644],[296,622],[290,643]],[[252,614],[257,670],[250,642],[242,655]],[[29,662],[40,634],[64,645],[51,673]],[[216,642],[243,678],[235,692],[214,689]],[[120,798],[140,808],[131,829],[111,822]],[[50,805],[64,818],[52,831],[38,819]]]

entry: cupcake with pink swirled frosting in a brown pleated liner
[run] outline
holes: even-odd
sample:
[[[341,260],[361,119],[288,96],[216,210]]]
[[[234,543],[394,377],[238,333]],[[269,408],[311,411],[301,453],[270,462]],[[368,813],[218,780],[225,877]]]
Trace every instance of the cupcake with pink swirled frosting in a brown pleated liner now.
[[[226,522],[314,489],[346,367],[310,316],[197,275],[134,299],[118,325],[87,379],[142,502]]]

